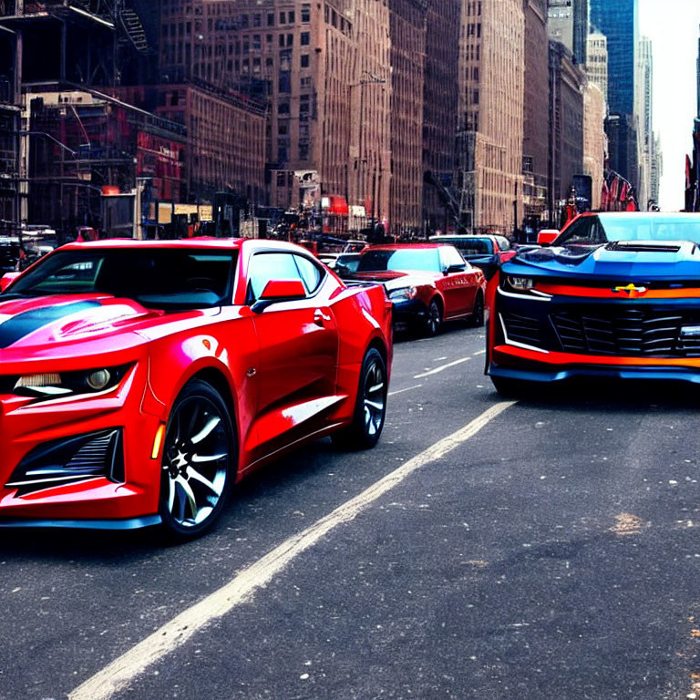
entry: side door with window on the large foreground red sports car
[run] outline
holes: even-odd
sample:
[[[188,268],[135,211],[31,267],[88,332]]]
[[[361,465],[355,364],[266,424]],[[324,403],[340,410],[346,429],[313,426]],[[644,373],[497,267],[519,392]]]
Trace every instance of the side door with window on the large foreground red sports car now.
[[[262,458],[324,427],[337,402],[338,332],[320,264],[301,253],[261,251],[252,254],[248,270],[248,304],[271,280],[301,280],[306,291],[303,299],[276,302],[252,315],[260,344],[253,458]]]

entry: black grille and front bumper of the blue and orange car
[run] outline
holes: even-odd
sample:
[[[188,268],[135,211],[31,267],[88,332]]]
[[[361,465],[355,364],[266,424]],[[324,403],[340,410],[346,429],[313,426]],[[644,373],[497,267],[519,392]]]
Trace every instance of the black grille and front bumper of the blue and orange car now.
[[[556,382],[582,376],[700,384],[698,299],[592,299],[497,291],[490,376]]]

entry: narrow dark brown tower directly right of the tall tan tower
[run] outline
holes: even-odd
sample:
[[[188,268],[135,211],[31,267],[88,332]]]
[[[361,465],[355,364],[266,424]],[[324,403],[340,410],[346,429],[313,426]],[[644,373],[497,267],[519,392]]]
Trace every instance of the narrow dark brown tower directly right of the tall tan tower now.
[[[525,75],[522,128],[523,219],[537,231],[548,219],[547,164],[549,154],[547,0],[523,0]]]

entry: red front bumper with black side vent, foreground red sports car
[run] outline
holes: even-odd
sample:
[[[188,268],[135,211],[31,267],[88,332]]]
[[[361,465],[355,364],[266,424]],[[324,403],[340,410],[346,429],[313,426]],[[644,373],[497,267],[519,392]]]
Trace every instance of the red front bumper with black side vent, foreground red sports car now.
[[[141,408],[147,367],[135,363],[95,396],[0,396],[0,527],[153,524],[160,459],[150,452],[161,421]]]

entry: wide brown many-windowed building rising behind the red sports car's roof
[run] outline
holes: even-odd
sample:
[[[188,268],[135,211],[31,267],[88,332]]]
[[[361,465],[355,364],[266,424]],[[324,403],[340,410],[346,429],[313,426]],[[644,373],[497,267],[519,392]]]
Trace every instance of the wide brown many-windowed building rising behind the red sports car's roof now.
[[[267,104],[270,204],[387,218],[387,0],[163,0],[161,45],[165,81]]]

